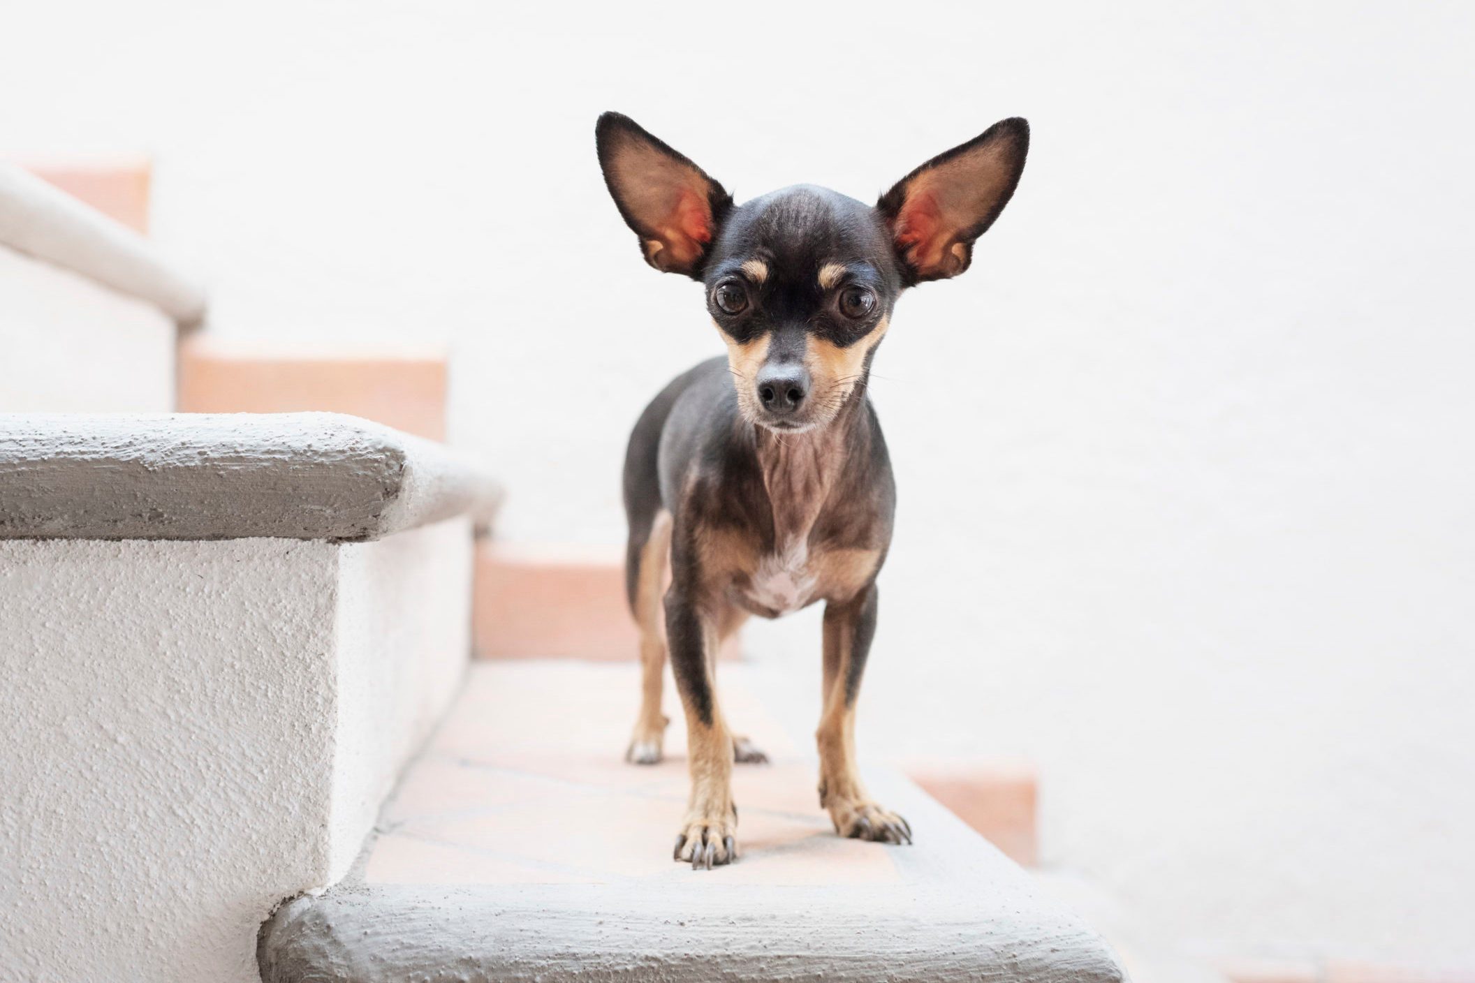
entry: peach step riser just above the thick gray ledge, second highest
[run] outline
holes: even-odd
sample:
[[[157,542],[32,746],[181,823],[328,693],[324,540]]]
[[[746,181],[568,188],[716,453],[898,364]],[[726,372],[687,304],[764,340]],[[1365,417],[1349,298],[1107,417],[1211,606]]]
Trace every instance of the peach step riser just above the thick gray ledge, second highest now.
[[[180,345],[183,413],[348,413],[406,433],[445,439],[444,358],[296,358]]]

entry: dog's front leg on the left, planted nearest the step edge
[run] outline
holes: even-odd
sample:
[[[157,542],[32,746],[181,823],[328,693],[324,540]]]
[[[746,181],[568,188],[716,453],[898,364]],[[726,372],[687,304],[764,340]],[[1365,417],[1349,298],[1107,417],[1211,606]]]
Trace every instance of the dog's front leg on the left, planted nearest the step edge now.
[[[738,859],[738,806],[733,805],[733,738],[717,706],[712,663],[717,653],[717,619],[680,585],[665,595],[667,643],[671,672],[686,710],[686,755],[692,796],[676,859],[693,870]]]

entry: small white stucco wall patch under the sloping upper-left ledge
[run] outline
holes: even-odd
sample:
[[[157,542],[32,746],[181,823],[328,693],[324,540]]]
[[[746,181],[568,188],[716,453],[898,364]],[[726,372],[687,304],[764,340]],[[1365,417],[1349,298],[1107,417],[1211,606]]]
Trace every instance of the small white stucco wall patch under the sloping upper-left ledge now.
[[[174,321],[0,245],[0,413],[167,413]]]

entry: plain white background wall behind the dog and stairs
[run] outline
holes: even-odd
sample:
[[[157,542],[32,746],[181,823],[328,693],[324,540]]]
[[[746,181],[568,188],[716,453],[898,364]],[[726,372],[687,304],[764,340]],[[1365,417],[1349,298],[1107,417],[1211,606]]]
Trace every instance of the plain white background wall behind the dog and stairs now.
[[[720,351],[591,127],[869,197],[1021,113],[974,270],[903,301],[863,741],[1024,753],[1046,853],[1162,933],[1475,959],[1466,4],[41,4],[15,150],[158,155],[227,336],[454,345],[504,528],[615,542],[643,401]],[[813,613],[811,613],[813,615]],[[752,632],[817,674],[807,616]]]

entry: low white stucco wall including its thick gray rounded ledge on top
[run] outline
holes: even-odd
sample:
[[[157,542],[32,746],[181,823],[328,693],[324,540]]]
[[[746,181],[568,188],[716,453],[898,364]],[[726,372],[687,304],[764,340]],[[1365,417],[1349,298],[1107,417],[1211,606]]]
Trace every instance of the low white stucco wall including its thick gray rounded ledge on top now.
[[[457,688],[494,501],[351,417],[0,416],[0,980],[255,983]]]

